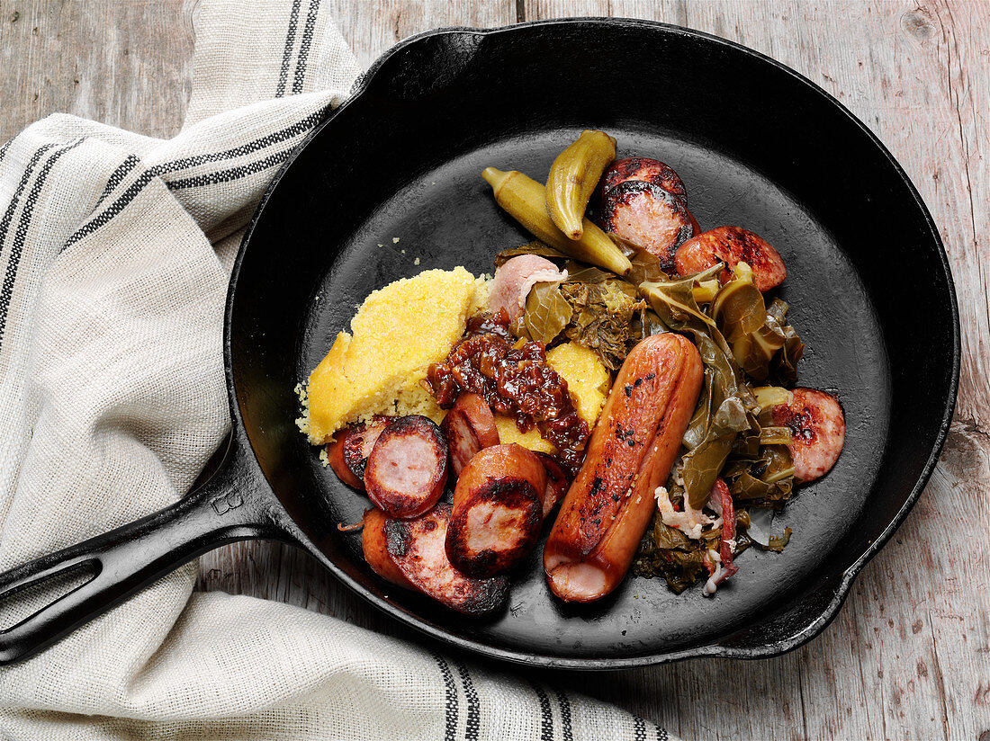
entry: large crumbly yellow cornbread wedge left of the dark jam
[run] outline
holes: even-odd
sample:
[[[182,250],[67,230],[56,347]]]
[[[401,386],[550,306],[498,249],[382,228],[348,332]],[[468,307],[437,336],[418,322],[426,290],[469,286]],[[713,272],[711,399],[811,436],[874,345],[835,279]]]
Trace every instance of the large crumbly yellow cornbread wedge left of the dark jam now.
[[[310,375],[310,442],[322,445],[345,424],[376,414],[440,421],[444,413],[422,382],[487,297],[483,278],[462,267],[425,270],[371,293],[350,321],[352,333],[339,333]]]

